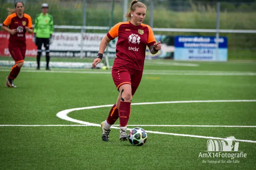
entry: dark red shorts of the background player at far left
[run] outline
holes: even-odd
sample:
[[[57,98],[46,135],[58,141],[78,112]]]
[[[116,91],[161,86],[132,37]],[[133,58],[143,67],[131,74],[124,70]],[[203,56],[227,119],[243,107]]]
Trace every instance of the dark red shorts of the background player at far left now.
[[[25,54],[26,54],[26,46],[17,46],[17,45],[8,45],[9,52],[14,59],[15,63],[24,62]]]

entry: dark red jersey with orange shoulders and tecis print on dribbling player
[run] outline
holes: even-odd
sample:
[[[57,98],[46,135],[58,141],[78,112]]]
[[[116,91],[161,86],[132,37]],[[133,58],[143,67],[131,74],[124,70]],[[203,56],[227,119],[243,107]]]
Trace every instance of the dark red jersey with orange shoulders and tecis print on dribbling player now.
[[[143,70],[146,47],[156,43],[150,26],[141,24],[134,26],[130,22],[121,22],[110,29],[107,36],[116,44],[116,58],[113,68],[128,67],[135,70]]]

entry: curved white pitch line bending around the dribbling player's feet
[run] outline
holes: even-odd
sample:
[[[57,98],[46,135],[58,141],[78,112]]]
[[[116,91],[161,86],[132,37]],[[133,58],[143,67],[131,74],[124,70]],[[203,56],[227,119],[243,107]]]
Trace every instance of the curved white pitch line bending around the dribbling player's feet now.
[[[256,102],[256,100],[195,100],[195,101],[171,101],[171,102],[132,103],[131,105],[153,105],[153,104],[194,103],[194,102]],[[60,119],[64,119],[64,120],[67,120],[67,121],[70,121],[70,122],[76,122],[76,123],[83,124],[83,125],[91,125],[91,126],[100,127],[99,124],[90,123],[90,122],[84,122],[84,121],[81,121],[81,120],[77,120],[77,119],[73,119],[71,117],[68,117],[68,113],[70,113],[72,111],[80,111],[80,110],[94,109],[94,108],[105,108],[105,107],[111,107],[111,106],[113,106],[113,105],[101,105],[101,106],[90,106],[90,107],[84,107],[84,108],[67,109],[67,110],[58,112],[56,116],[59,117]],[[111,128],[117,129],[118,127],[112,126]],[[127,128],[127,130],[131,130],[131,129]],[[197,135],[187,135],[187,134],[178,134],[178,133],[165,133],[165,132],[157,132],[157,131],[150,131],[150,130],[147,130],[147,133],[165,134],[165,135],[173,135],[173,136],[187,136],[187,137],[204,138],[204,139],[227,140],[225,138],[218,138],[218,137],[212,137],[212,136],[197,136]],[[236,141],[256,143],[256,141],[252,141],[252,140],[236,139]]]

